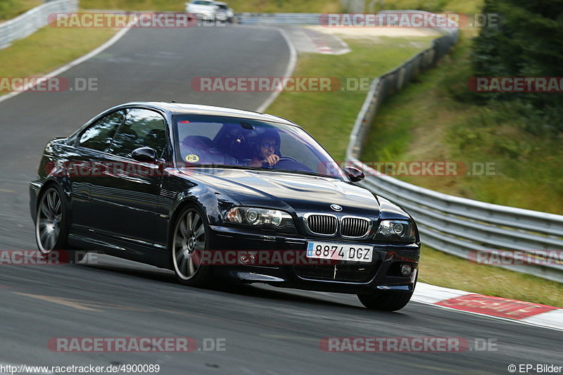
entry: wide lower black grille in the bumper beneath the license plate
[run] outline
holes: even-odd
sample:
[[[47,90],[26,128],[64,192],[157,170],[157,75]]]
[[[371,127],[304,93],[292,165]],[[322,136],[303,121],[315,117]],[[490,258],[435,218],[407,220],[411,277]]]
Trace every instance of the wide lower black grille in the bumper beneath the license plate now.
[[[336,272],[335,271],[336,267]],[[379,262],[369,265],[296,266],[298,277],[308,280],[367,283],[372,281],[379,269]]]

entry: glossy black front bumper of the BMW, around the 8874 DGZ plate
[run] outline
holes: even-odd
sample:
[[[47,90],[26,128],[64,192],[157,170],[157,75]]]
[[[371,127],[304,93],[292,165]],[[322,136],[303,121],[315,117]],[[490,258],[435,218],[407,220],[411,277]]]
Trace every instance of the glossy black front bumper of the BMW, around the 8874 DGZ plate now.
[[[212,226],[210,231],[212,251],[289,250],[302,253],[304,257],[308,241],[354,243],[350,240],[327,241],[298,235],[257,234],[233,227]],[[214,266],[213,269],[218,277],[313,291],[362,294],[414,290],[420,256],[419,244],[355,243],[374,247],[372,262],[339,261],[331,265],[244,265],[239,262],[236,265],[229,263],[225,267]],[[413,267],[413,272],[408,277],[401,276],[399,272],[400,264],[405,262]]]

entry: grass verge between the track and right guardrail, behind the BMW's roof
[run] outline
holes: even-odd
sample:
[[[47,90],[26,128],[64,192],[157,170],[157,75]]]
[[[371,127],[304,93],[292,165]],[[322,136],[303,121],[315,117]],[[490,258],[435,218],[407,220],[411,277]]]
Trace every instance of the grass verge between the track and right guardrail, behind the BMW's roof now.
[[[295,77],[374,77],[430,46],[431,37],[348,39],[352,52],[341,56],[300,53]],[[268,113],[288,117],[344,160],[348,136],[367,91],[282,92]]]

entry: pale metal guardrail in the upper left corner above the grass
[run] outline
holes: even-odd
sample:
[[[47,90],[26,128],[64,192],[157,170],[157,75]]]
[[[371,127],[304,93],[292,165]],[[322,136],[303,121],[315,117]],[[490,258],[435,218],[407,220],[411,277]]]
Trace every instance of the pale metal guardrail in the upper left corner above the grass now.
[[[0,49],[5,49],[14,40],[23,39],[46,26],[51,13],[73,13],[77,10],[78,0],[54,0],[0,23]]]

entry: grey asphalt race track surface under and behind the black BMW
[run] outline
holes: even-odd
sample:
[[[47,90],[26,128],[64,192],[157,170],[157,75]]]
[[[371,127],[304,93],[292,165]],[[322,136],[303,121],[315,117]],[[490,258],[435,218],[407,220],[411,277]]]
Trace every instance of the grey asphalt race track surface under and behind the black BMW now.
[[[34,249],[27,183],[44,144],[134,100],[254,110],[269,94],[203,94],[198,76],[281,76],[289,46],[278,30],[141,30],[63,74],[97,77],[98,91],[24,93],[0,102],[0,248]],[[307,110],[304,108],[304,110]],[[97,265],[0,269],[0,364],[160,364],[160,374],[507,374],[509,364],[563,364],[561,332],[410,303],[372,312],[355,295],[270,286],[203,290],[172,272],[99,256]],[[495,351],[323,352],[327,337],[492,338]],[[224,339],[224,351],[60,353],[56,337]]]

